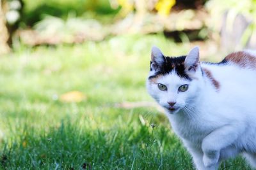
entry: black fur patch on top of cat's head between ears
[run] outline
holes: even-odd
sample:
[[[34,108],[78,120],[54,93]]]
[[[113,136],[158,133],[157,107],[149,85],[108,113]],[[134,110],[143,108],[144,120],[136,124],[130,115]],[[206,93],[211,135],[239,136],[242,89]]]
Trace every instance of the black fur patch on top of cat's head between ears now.
[[[175,73],[180,76],[181,78],[185,78],[187,80],[192,80],[188,74],[185,72],[185,65],[184,61],[186,59],[186,56],[180,56],[180,57],[165,57],[165,61],[161,66],[157,67],[156,73],[153,76],[150,76],[150,78],[154,78],[159,74],[166,75],[168,73],[171,73],[173,70]],[[151,66],[152,62],[150,62]],[[152,70],[152,67],[150,67],[150,70]]]

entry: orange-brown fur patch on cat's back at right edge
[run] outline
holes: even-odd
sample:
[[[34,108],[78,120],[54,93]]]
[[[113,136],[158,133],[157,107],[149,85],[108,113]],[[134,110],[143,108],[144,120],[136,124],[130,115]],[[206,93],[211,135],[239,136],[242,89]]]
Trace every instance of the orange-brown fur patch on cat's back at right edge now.
[[[248,52],[234,52],[225,57],[225,60],[234,62],[240,67],[250,67],[256,69],[256,57]]]

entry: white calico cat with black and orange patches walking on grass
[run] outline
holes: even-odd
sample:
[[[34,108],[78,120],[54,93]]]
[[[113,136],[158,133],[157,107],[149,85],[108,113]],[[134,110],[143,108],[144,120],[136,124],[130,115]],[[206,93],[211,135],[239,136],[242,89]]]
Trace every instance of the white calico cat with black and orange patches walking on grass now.
[[[256,168],[256,52],[200,62],[199,47],[166,57],[152,47],[147,90],[165,110],[196,169],[242,154]]]

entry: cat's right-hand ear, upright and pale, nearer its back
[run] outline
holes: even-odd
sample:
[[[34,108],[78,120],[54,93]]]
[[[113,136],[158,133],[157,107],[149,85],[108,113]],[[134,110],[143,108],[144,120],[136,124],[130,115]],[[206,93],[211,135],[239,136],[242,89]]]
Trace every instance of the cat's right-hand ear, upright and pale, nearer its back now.
[[[196,72],[199,67],[199,46],[195,46],[189,51],[184,64],[187,71]]]

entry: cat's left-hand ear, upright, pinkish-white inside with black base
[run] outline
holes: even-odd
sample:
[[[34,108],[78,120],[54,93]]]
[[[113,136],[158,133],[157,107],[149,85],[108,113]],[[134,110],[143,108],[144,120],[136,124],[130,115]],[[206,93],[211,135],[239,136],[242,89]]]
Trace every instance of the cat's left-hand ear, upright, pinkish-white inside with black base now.
[[[151,50],[151,64],[150,64],[150,70],[157,70],[159,67],[161,67],[164,64],[165,57],[161,50],[157,48],[156,46],[152,47]]]

